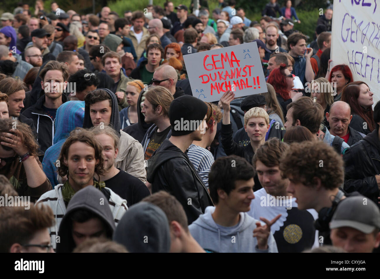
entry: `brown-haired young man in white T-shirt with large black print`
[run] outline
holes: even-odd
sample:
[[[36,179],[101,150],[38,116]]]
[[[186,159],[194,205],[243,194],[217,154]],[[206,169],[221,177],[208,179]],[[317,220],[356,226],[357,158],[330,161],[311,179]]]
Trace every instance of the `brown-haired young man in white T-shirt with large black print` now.
[[[287,194],[289,180],[281,177],[279,169],[280,157],[287,149],[287,143],[275,138],[257,149],[252,164],[263,188],[254,192],[255,199],[251,202],[248,215],[255,219],[264,217],[271,220],[282,214],[271,227],[277,249],[279,252],[302,252],[315,242],[313,222],[318,214],[312,209],[299,210],[295,198]],[[293,227],[297,228],[298,233],[291,231]]]

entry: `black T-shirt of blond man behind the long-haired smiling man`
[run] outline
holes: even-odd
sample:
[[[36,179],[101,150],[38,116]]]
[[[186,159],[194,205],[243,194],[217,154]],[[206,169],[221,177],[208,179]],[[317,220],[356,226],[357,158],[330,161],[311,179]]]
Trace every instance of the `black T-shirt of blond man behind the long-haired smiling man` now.
[[[107,188],[114,191],[122,199],[127,200],[128,207],[150,195],[148,188],[141,180],[123,170],[120,170],[117,175],[104,181],[104,183]]]

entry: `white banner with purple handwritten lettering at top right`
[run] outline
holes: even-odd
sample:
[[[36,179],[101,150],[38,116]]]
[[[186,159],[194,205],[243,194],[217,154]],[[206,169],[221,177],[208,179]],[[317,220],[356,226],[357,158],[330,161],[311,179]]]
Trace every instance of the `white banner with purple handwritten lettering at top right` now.
[[[336,0],[332,17],[333,66],[346,64],[355,81],[364,81],[380,100],[380,3],[376,0]]]

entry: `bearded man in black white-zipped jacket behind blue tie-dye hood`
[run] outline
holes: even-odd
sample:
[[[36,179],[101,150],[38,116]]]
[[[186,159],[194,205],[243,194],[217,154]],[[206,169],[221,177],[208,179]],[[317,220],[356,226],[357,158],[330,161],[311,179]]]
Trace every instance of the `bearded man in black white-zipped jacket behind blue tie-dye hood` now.
[[[54,120],[57,109],[68,98],[63,93],[66,89],[69,70],[65,63],[49,61],[40,72],[41,87],[45,95],[26,109],[22,114],[31,118],[38,131],[38,143],[43,152],[53,144]],[[42,158],[40,158],[42,161]]]

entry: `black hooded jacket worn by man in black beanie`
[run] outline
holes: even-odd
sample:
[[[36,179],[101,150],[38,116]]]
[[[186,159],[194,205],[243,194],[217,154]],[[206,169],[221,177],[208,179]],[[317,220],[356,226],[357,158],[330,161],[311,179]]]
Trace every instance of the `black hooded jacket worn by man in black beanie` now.
[[[147,180],[152,194],[164,190],[184,207],[188,224],[194,222],[212,200],[187,154],[165,139],[147,161]]]

